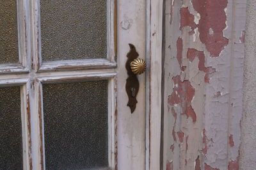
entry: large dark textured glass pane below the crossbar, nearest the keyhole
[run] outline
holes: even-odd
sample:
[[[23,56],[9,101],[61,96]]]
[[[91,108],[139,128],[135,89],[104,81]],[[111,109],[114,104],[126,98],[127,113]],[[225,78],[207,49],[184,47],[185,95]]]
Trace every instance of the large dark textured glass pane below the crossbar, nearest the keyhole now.
[[[108,167],[108,81],[44,84],[46,169]]]

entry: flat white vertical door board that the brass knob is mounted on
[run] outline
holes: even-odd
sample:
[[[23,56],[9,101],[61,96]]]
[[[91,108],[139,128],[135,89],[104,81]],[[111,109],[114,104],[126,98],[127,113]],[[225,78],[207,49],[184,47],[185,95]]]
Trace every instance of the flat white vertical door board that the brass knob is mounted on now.
[[[132,43],[145,59],[146,1],[118,1],[118,169],[145,169],[145,74],[139,75],[140,89],[135,111],[127,107],[125,63]]]

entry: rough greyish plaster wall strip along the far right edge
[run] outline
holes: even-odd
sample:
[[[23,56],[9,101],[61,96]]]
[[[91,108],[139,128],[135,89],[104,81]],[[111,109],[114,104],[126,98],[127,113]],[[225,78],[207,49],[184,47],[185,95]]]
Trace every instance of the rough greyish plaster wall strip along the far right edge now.
[[[256,1],[247,1],[241,169],[256,169]]]

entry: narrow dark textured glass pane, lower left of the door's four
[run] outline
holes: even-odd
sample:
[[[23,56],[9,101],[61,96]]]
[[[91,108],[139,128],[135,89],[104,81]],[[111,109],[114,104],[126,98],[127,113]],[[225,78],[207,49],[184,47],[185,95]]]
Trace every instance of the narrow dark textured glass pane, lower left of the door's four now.
[[[0,88],[0,169],[23,169],[19,87]]]

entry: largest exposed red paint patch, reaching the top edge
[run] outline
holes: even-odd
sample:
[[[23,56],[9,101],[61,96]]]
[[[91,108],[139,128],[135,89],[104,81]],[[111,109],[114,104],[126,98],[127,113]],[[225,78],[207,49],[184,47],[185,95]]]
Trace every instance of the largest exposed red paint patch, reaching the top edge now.
[[[211,56],[220,56],[221,50],[228,44],[228,39],[223,36],[227,20],[224,10],[227,0],[192,0],[192,3],[200,13],[198,31],[201,42],[205,44]],[[213,33],[209,33],[210,29]]]

